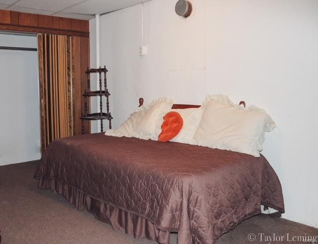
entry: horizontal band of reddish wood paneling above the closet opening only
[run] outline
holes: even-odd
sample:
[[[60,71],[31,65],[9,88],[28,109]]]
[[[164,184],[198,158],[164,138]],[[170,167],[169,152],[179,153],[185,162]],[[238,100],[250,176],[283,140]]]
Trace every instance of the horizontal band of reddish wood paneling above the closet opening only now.
[[[0,9],[0,30],[89,37],[89,22]]]

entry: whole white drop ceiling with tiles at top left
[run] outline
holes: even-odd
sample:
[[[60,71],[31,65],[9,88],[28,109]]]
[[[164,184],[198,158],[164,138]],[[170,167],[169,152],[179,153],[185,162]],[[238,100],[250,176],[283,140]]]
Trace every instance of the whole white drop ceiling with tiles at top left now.
[[[116,11],[148,0],[0,0],[0,9],[91,19],[94,14]]]

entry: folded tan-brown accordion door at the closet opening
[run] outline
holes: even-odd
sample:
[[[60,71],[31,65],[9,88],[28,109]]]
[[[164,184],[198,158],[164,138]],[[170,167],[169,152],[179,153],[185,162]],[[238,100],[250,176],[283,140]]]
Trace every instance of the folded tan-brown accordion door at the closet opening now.
[[[39,34],[42,151],[74,135],[74,38]]]

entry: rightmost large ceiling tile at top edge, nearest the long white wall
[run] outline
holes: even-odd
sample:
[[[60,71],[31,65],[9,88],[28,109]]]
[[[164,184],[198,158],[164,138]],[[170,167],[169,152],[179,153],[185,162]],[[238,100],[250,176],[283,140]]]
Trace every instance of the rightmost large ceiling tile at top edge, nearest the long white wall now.
[[[123,7],[136,5],[143,1],[145,2],[147,0],[87,0],[63,11],[86,14],[105,13]]]

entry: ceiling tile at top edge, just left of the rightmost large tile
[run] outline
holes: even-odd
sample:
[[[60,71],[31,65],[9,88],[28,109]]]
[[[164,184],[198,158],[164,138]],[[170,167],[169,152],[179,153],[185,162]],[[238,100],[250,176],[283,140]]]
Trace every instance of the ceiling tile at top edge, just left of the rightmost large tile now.
[[[20,0],[15,6],[39,8],[50,11],[61,11],[66,7],[83,2],[85,0]]]

